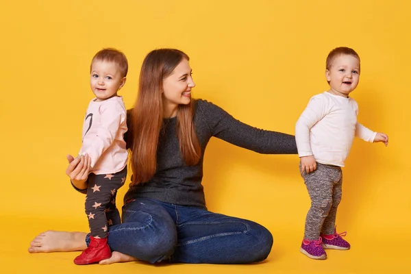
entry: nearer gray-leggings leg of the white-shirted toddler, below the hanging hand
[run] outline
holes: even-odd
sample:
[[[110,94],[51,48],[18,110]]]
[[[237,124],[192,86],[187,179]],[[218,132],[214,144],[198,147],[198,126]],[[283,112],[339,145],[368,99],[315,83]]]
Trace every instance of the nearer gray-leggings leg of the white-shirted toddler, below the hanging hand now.
[[[304,238],[318,240],[325,218],[332,208],[332,189],[338,172],[324,164],[317,164],[316,171],[301,173],[311,198],[311,208],[306,217]]]

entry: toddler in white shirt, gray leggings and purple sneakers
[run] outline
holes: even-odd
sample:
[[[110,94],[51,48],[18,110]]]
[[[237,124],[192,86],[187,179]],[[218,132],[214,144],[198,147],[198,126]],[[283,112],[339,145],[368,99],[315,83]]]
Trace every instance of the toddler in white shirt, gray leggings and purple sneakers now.
[[[336,233],[335,222],[341,200],[341,167],[354,136],[367,142],[384,142],[388,136],[372,132],[357,122],[358,105],[349,94],[360,79],[360,57],[353,49],[338,47],[326,62],[329,90],[312,97],[295,126],[300,172],[311,198],[311,208],[301,253],[312,259],[326,259],[324,249],[349,249]]]

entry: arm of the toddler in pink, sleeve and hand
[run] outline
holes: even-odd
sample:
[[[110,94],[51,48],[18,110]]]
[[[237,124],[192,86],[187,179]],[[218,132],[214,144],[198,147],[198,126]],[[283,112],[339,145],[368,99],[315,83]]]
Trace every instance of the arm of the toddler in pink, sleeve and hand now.
[[[119,127],[125,121],[125,112],[116,101],[103,105],[99,109],[99,128],[96,134],[86,134],[83,140],[81,155],[88,154],[91,158],[91,167],[94,167],[103,152],[112,145]]]

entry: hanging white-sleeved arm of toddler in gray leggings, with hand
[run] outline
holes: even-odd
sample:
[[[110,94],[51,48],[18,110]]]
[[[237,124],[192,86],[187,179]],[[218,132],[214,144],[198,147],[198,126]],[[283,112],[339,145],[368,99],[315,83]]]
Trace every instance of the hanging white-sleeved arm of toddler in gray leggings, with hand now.
[[[316,160],[310,145],[310,129],[327,114],[327,105],[323,95],[312,97],[295,125],[295,140],[301,160],[301,171],[306,173],[316,170]]]

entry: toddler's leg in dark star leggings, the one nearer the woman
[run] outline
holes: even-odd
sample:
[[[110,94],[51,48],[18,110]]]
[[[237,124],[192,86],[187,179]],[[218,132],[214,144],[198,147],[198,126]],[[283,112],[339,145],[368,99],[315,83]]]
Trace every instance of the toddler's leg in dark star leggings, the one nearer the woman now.
[[[117,190],[124,185],[125,178],[127,177],[127,166],[118,173],[114,173],[110,180],[110,192],[112,194],[110,203],[108,203],[107,207],[105,208],[105,217],[107,218],[108,226],[111,225],[119,225],[121,223],[120,213],[116,207],[116,196]]]

